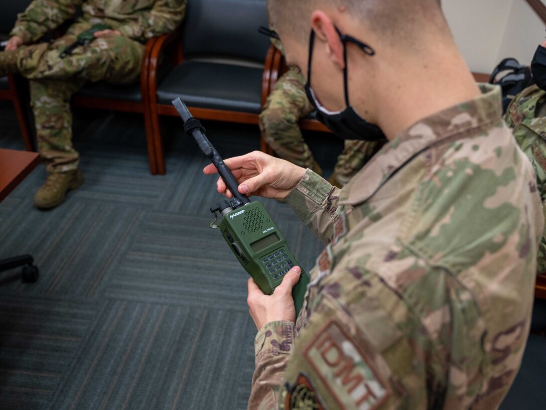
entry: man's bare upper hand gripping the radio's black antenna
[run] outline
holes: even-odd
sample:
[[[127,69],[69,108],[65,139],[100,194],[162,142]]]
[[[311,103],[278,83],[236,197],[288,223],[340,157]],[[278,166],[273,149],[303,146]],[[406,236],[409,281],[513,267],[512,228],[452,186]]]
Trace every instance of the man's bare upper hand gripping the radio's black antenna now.
[[[241,157],[224,161],[239,182],[241,194],[258,195],[264,198],[283,199],[296,186],[305,174],[305,169],[284,159],[271,157],[260,151],[254,151]],[[216,174],[213,164],[207,165],[206,175]],[[218,192],[233,198],[222,178],[216,182]]]

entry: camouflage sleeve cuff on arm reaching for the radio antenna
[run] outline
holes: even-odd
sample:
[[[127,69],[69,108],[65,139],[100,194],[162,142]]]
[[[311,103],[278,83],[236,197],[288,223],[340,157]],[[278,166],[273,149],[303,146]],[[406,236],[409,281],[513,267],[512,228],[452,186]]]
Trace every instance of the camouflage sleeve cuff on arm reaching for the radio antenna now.
[[[344,206],[338,205],[340,189],[336,188],[310,169],[290,192],[287,203],[296,215],[323,243],[331,241],[334,224]]]

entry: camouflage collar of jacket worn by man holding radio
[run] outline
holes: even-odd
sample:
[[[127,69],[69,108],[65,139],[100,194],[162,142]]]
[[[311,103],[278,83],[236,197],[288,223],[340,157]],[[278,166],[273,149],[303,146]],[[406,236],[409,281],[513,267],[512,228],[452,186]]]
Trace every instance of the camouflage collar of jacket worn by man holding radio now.
[[[363,203],[420,152],[450,139],[476,134],[501,121],[501,88],[490,84],[479,87],[482,95],[423,118],[385,145],[342,189],[340,203]]]

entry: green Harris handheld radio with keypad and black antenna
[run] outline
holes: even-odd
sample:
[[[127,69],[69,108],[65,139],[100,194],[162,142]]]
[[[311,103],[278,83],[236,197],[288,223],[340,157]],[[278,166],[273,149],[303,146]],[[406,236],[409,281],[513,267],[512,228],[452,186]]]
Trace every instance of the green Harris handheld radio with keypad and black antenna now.
[[[281,284],[284,275],[293,266],[299,266],[294,254],[290,252],[286,239],[264,206],[258,201],[251,202],[246,195],[239,192],[239,183],[206,138],[201,123],[192,117],[180,98],[176,98],[173,105],[184,120],[186,134],[193,136],[200,150],[210,158],[225,185],[233,193],[230,203],[224,200],[211,208],[215,217],[218,212],[223,217],[218,225],[214,221],[211,228],[221,231],[242,267],[252,276],[262,292],[270,295]],[[309,277],[302,269],[300,280],[292,290],[296,317],[301,310],[308,283]]]

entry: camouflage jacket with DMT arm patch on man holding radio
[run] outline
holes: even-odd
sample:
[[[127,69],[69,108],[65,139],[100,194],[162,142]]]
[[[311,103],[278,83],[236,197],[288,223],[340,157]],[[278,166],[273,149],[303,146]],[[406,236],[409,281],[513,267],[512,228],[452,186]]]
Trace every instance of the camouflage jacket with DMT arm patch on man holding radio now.
[[[495,409],[521,362],[541,200],[500,88],[424,118],[342,190],[288,203],[327,245],[296,321],[255,340],[249,409]]]

